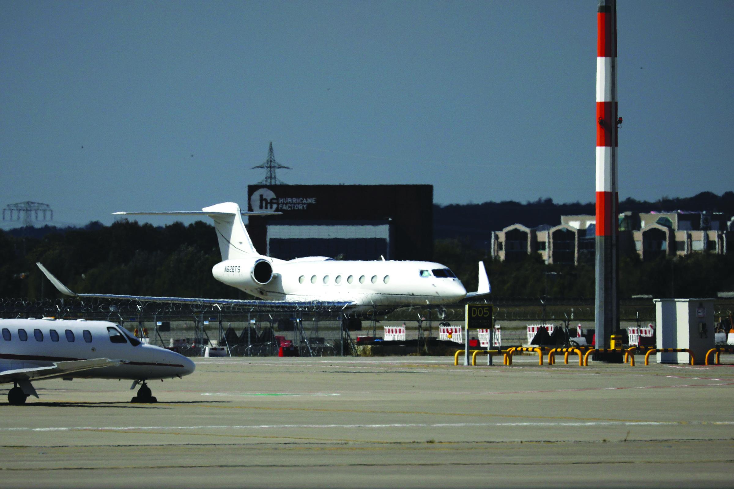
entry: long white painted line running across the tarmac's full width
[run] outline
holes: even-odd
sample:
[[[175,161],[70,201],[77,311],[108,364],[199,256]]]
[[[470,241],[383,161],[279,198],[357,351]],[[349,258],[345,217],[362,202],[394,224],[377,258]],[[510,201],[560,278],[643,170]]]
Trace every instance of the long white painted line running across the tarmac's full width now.
[[[683,426],[688,424],[733,426],[734,421],[590,421],[590,422],[506,422],[506,423],[390,423],[390,424],[208,424],[201,426],[68,426],[68,427],[6,427],[0,431],[145,431],[145,430],[262,430],[292,428],[426,428],[426,427],[596,427],[596,426]]]

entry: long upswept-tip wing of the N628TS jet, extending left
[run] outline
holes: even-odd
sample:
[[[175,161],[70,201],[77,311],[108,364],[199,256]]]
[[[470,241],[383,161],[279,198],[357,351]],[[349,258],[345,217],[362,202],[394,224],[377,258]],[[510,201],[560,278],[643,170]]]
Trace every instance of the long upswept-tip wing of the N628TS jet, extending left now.
[[[123,299],[128,301],[146,301],[146,302],[172,302],[175,304],[220,304],[220,305],[233,305],[233,306],[283,306],[283,307],[308,307],[308,306],[327,306],[327,307],[341,307],[344,309],[346,306],[354,306],[357,303],[353,301],[245,301],[242,299],[207,299],[207,298],[192,298],[192,297],[157,297],[154,295],[117,295],[117,294],[78,294],[73,292],[69,287],[66,287],[62,282],[57,279],[53,273],[48,271],[42,263],[37,262],[38,268],[43,272],[44,275],[54,284],[54,287],[64,295],[71,295],[72,297],[95,297],[103,299]]]

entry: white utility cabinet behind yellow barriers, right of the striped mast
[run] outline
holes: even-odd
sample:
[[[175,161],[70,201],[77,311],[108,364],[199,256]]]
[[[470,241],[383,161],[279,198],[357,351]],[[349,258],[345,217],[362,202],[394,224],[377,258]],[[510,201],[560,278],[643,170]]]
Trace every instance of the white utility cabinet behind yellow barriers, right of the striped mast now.
[[[697,364],[714,346],[713,299],[654,299],[655,348],[687,348]],[[688,353],[657,353],[658,364],[687,364]]]

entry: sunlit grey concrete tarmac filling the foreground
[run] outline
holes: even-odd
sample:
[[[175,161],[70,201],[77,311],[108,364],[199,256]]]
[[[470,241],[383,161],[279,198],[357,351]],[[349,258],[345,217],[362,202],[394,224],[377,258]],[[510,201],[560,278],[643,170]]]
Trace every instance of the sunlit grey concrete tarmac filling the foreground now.
[[[734,367],[637,360],[197,359],[154,405],[39,381],[0,406],[0,487],[734,487]]]

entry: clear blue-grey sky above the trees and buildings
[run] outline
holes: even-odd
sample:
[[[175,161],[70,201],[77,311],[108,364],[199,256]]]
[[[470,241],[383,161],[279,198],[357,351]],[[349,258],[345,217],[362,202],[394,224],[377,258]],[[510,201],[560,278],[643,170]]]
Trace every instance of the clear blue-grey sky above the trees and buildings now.
[[[596,6],[2,1],[0,207],[244,206],[269,141],[286,183],[592,202]],[[617,8],[620,198],[733,190],[734,2]]]

